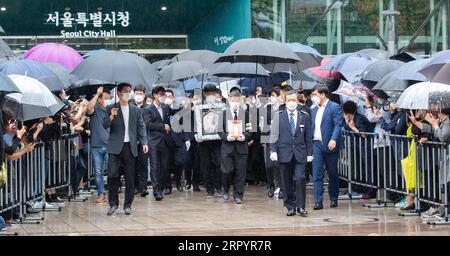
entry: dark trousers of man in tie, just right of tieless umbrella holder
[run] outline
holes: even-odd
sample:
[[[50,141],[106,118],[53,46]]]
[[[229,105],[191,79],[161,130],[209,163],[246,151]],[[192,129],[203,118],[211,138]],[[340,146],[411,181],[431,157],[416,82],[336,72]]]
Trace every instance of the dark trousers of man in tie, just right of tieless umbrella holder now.
[[[164,182],[170,180],[167,168],[169,149],[165,144],[150,149],[150,176],[153,184],[153,194],[157,195],[164,189]]]

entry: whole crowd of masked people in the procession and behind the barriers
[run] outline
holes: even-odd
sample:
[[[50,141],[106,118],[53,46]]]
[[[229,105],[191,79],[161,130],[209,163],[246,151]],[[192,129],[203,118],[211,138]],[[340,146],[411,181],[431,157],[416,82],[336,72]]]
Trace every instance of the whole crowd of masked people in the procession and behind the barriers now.
[[[39,120],[20,122],[2,108],[1,158],[3,162],[20,160],[42,143],[49,175],[54,168],[48,164],[54,155],[51,143],[75,134],[78,140],[72,146],[80,154],[66,156],[74,164],[71,187],[76,195],[85,188],[91,154],[96,203],[109,203],[108,215],[119,209],[118,193],[124,181],[126,215],[132,214],[135,195],[146,197],[152,191],[156,201],[163,201],[174,188],[204,191],[207,198],[218,195],[241,204],[250,183],[266,186],[269,198],[283,199],[287,216],[306,217],[307,182],[314,185],[313,209],[324,208],[325,170],[329,207],[338,207],[343,130],[358,137],[379,135],[366,145],[373,150],[373,159],[365,160],[372,161],[370,166],[388,165],[380,152],[398,155],[394,161],[404,158],[404,152],[393,152],[389,134],[407,135],[412,129],[420,144],[450,143],[449,109],[409,111],[397,108],[396,99],[370,97],[360,107],[353,101],[330,100],[328,88],[320,84],[309,91],[274,86],[263,92],[257,87],[250,94],[234,87],[227,97],[215,85],[206,84],[182,99],[162,86],[148,91],[130,84],[118,85],[114,93],[99,87],[88,98],[69,97],[64,91],[56,95],[65,108]],[[355,191],[363,193],[363,199],[376,196],[376,189],[356,187]],[[27,211],[39,212],[43,205],[62,202],[66,196],[65,190],[48,190],[45,200],[29,204]],[[389,199],[399,201],[397,206],[404,210],[414,207],[411,196],[401,199],[392,193]],[[442,209],[430,207],[426,214],[442,215]],[[16,223],[17,209],[2,217]]]

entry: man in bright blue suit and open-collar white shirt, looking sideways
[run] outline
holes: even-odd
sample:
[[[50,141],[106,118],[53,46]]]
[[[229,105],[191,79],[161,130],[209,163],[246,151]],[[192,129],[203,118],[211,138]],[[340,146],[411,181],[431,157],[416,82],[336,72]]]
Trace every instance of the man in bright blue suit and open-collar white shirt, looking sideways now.
[[[330,195],[330,207],[338,206],[339,176],[338,159],[341,148],[342,109],[328,99],[326,86],[317,85],[311,92],[311,101],[316,107],[311,111],[313,133],[313,180],[314,210],[323,209],[323,173],[326,166]]]

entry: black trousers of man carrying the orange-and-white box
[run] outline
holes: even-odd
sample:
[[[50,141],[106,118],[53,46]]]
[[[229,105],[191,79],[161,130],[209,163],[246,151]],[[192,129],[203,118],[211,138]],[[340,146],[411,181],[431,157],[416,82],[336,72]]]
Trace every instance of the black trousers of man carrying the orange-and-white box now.
[[[230,154],[222,154],[222,185],[225,193],[230,191],[233,184],[233,196],[242,199],[245,188],[245,175],[247,173],[247,157],[236,150]]]

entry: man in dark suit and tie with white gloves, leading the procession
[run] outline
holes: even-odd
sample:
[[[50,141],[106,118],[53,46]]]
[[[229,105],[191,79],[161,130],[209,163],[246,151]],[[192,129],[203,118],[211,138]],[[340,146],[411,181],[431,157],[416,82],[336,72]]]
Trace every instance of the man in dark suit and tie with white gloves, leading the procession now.
[[[295,91],[286,92],[286,110],[275,116],[271,127],[270,159],[280,162],[281,186],[287,216],[296,211],[308,216],[305,209],[305,166],[312,161],[312,128],[309,115],[298,110]]]

